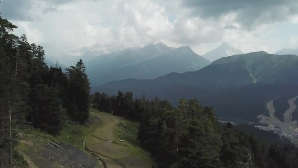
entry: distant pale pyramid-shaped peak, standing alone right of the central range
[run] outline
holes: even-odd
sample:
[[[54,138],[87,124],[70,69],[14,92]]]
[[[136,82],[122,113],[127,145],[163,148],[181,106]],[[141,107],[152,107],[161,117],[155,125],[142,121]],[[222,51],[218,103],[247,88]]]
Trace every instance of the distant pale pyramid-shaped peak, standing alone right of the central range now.
[[[244,52],[233,48],[227,43],[221,44],[219,47],[209,51],[208,53],[204,54],[203,56],[210,61],[215,61],[222,57],[237,55],[237,54],[244,54]]]

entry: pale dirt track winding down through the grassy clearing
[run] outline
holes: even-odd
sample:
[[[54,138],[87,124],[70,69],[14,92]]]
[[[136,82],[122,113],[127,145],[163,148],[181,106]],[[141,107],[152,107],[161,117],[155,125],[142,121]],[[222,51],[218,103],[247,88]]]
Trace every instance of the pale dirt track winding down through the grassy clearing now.
[[[100,157],[107,168],[151,168],[148,162],[133,156],[132,146],[116,141],[114,129],[120,122],[112,115],[101,115],[103,125],[87,136],[87,149]]]

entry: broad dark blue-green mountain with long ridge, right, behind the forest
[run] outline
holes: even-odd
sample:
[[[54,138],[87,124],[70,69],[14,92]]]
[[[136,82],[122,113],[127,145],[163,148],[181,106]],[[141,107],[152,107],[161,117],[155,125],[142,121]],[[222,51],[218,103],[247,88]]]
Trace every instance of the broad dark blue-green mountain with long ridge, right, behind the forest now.
[[[298,95],[297,76],[298,56],[254,52],[221,58],[199,71],[109,82],[96,90],[133,91],[136,96],[158,96],[174,104],[180,98],[197,98],[214,106],[219,117],[255,120],[267,113],[267,101]]]

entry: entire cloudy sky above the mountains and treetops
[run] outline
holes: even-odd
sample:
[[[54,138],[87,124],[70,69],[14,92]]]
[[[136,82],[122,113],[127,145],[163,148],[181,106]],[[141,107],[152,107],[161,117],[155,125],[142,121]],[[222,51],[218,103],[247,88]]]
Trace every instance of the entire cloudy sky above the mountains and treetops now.
[[[47,56],[102,54],[163,42],[199,55],[298,48],[297,0],[1,0],[3,18]]]

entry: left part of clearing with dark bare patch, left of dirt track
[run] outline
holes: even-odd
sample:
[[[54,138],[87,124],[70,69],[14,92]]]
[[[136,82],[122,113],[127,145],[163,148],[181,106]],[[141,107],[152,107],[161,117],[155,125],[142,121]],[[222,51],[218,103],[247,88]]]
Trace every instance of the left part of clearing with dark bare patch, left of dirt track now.
[[[26,126],[18,130],[20,142],[16,148],[32,168],[103,168],[103,164],[83,147],[84,137],[100,125],[100,119],[90,112],[84,125],[64,123],[56,137]]]

